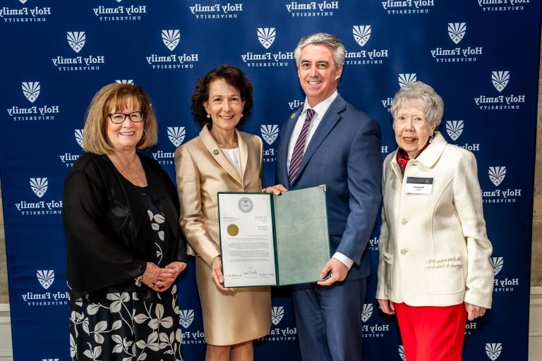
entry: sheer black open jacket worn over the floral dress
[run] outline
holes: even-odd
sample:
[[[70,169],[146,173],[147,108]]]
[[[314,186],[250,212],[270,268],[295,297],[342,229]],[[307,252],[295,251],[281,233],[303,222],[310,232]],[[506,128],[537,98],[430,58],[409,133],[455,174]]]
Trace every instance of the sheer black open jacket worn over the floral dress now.
[[[154,159],[138,154],[152,200],[164,214],[171,238],[164,261],[186,262],[186,240],[179,228],[174,184]],[[66,279],[73,295],[88,294],[133,279],[145,271],[152,242],[140,239],[147,209],[127,189],[126,180],[106,155],[83,154],[64,182]],[[135,287],[135,285],[134,285]],[[142,287],[146,287],[143,286]],[[72,298],[73,299],[73,298]]]

